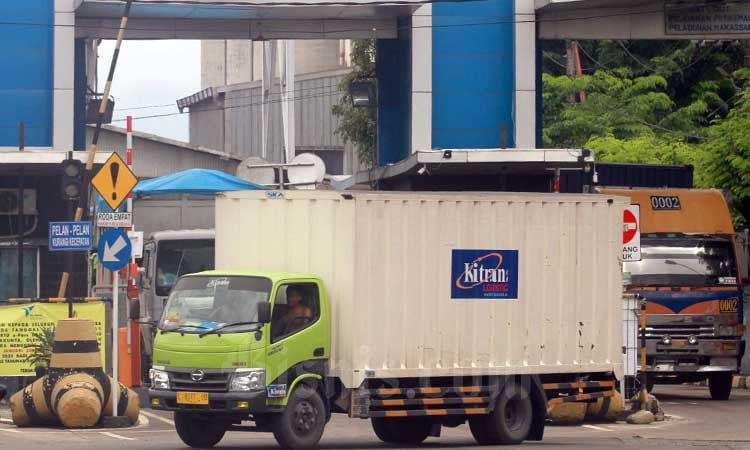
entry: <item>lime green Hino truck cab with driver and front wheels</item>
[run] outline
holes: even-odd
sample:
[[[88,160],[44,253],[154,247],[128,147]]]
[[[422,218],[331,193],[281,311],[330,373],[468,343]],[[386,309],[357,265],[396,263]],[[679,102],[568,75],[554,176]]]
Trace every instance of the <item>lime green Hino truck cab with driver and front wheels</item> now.
[[[319,278],[185,276],[158,324],[151,406],[175,411],[177,433],[193,447],[213,446],[250,419],[285,447],[309,447],[328,417],[322,380],[329,352],[328,298]]]

